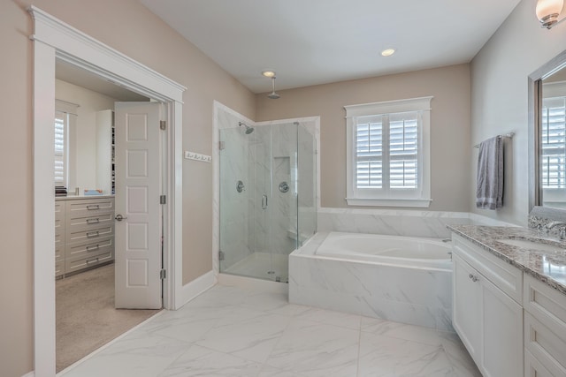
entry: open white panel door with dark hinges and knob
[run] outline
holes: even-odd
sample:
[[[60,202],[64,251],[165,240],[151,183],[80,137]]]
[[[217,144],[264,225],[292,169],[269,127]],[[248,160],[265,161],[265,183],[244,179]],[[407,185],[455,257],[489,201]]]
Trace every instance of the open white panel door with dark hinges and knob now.
[[[159,120],[158,102],[115,103],[116,308],[162,307]]]

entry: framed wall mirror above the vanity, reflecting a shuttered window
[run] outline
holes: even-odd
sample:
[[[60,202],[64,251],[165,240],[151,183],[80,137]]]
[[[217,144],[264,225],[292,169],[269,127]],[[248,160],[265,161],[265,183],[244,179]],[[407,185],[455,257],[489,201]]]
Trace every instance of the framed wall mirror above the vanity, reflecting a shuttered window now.
[[[529,76],[529,206],[566,211],[566,51]]]

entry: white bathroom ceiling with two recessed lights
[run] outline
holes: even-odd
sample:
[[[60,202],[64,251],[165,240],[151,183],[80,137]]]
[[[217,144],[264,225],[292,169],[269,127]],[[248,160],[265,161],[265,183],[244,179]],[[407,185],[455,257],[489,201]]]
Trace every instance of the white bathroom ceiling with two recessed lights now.
[[[520,2],[140,1],[254,93],[468,63]]]

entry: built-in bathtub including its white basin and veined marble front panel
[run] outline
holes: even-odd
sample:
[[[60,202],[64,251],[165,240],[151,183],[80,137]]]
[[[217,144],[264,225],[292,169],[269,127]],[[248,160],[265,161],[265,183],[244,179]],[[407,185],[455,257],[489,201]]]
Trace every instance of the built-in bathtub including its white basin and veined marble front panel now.
[[[289,256],[289,301],[451,330],[450,244],[319,232]]]

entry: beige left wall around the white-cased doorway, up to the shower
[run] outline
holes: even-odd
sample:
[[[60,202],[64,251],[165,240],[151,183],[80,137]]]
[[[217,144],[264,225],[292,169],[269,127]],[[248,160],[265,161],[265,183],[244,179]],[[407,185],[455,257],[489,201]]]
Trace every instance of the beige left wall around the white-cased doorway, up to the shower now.
[[[33,369],[31,0],[0,2],[0,374]],[[212,102],[254,117],[256,99],[136,0],[34,0],[67,24],[188,87],[183,96],[183,149],[212,155]],[[7,135],[7,136],[6,136]],[[212,164],[183,162],[183,282],[212,268]]]

